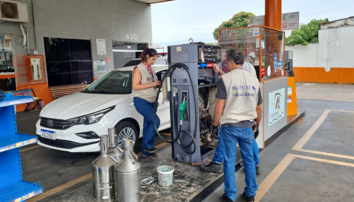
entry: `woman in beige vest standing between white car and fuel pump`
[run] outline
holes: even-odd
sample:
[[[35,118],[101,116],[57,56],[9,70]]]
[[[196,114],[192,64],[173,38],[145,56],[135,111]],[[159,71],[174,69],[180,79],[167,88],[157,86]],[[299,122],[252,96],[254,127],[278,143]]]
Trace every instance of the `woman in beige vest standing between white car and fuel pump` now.
[[[133,71],[132,94],[134,106],[144,117],[143,124],[143,157],[157,152],[154,147],[155,125],[154,106],[157,95],[157,87],[160,85],[155,69],[151,66],[156,62],[158,53],[155,49],[145,48],[140,58],[142,63],[138,64]],[[160,119],[156,115],[156,127],[160,127]]]

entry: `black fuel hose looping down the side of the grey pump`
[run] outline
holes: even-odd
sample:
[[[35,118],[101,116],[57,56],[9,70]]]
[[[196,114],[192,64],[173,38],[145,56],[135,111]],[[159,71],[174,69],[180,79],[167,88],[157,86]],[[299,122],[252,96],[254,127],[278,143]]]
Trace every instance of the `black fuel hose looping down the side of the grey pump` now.
[[[171,65],[170,67],[169,67],[169,69],[167,69],[167,71],[166,71],[166,73],[165,73],[165,75],[164,75],[164,77],[161,79],[161,84],[160,84],[160,86],[159,86],[159,89],[158,89],[158,94],[156,95],[156,99],[155,99],[155,107],[154,107],[154,125],[155,125],[155,130],[156,130],[156,133],[158,134],[158,136],[160,137],[160,139],[162,140],[162,141],[164,141],[164,142],[166,142],[166,143],[173,143],[173,142],[175,142],[175,141],[177,141],[178,142],[178,145],[180,145],[181,146],[181,148],[182,148],[182,150],[184,151],[184,152],[186,152],[186,153],[188,153],[188,154],[193,154],[193,153],[195,153],[195,151],[196,151],[196,141],[195,141],[195,137],[196,137],[196,133],[198,132],[197,131],[197,129],[198,129],[198,119],[197,119],[197,117],[198,117],[198,110],[197,110],[197,107],[195,107],[195,129],[194,129],[194,135],[192,135],[189,131],[186,131],[186,130],[182,130],[182,126],[179,128],[179,131],[178,131],[178,133],[177,133],[177,136],[176,136],[176,138],[175,139],[173,139],[173,140],[166,140],[166,139],[164,139],[163,137],[162,137],[162,135],[159,133],[159,130],[158,130],[158,127],[156,126],[156,112],[157,112],[157,107],[158,107],[158,100],[159,100],[159,94],[160,94],[160,91],[161,91],[161,87],[162,87],[162,84],[164,83],[164,80],[165,80],[165,78],[166,78],[166,76],[167,76],[167,74],[172,70],[172,68],[184,68],[185,69],[185,71],[188,73],[188,76],[189,76],[189,79],[190,79],[190,82],[192,82],[192,86],[193,86],[193,78],[192,78],[192,75],[190,74],[190,72],[189,72],[189,69],[188,69],[188,67],[185,65],[185,64],[182,64],[182,63],[175,63],[175,64],[173,64],[173,65]],[[196,102],[196,99],[195,99],[195,97],[196,97],[196,92],[195,92],[195,89],[194,89],[194,86],[193,86],[193,95],[194,95],[194,104],[195,104],[195,106],[198,106],[198,103]],[[173,103],[173,105],[174,105],[175,103]],[[173,106],[172,105],[172,106]],[[171,109],[171,110],[173,110],[173,109]],[[173,112],[172,112],[173,113]],[[175,120],[177,120],[176,118],[175,118]],[[174,124],[176,124],[176,123],[174,123]],[[175,127],[175,130],[176,130],[176,127]],[[184,145],[182,145],[181,144],[181,142],[179,141],[179,136],[181,135],[181,133],[187,133],[189,136],[190,136],[190,138],[192,139],[192,142],[190,142],[190,144],[189,144],[189,146],[191,146],[192,144],[194,144],[194,149],[193,149],[193,151],[188,151],[188,150],[186,150],[185,148],[186,147],[189,147],[189,146],[184,146]]]

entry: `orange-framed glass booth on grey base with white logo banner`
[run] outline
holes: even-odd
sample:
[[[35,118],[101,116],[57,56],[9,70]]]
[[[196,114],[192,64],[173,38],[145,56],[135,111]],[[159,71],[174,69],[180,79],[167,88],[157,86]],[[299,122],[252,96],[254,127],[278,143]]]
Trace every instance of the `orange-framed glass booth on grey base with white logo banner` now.
[[[264,26],[252,26],[219,30],[219,45],[222,49],[222,70],[225,67],[225,52],[240,48],[245,56],[255,58],[255,69],[263,98],[259,148],[287,124],[287,87],[284,77],[285,33]]]

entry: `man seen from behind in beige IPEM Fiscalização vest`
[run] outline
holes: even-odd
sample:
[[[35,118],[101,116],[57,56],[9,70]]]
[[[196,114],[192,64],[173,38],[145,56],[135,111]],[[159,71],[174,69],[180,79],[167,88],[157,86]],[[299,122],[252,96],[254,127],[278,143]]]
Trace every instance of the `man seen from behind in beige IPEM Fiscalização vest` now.
[[[235,155],[239,144],[245,168],[243,196],[247,202],[254,202],[258,185],[256,183],[256,165],[253,159],[253,132],[261,120],[262,97],[259,83],[254,75],[242,70],[244,55],[240,50],[227,51],[225,66],[230,72],[221,75],[216,98],[213,132],[217,133],[224,156],[225,193],[224,202],[236,200]],[[213,162],[208,165],[213,166]]]

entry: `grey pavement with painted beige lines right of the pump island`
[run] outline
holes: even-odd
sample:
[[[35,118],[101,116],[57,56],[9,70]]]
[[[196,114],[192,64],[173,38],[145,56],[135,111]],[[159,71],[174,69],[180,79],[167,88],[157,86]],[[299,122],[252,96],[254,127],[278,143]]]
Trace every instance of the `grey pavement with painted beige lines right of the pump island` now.
[[[299,99],[298,106],[304,117],[259,153],[256,202],[354,201],[354,103]],[[243,170],[235,176],[236,201],[245,201]],[[203,202],[222,201],[223,192],[221,185]]]

